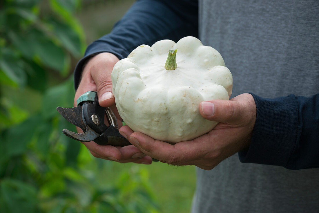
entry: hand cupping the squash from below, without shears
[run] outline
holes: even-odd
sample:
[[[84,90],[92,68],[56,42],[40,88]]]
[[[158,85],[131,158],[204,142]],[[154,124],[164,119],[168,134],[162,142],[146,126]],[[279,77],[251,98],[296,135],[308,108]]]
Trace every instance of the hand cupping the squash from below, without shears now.
[[[241,94],[230,101],[212,100],[199,106],[202,117],[220,122],[209,133],[192,141],[174,145],[154,140],[143,133],[134,133],[122,126],[120,133],[145,155],[173,165],[196,165],[211,170],[225,158],[248,148],[256,120],[256,105],[250,94]]]

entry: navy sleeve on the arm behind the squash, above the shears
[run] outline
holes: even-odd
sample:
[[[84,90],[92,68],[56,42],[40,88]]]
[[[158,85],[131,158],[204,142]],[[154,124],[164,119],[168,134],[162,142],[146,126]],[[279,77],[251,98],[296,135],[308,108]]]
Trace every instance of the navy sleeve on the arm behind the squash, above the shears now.
[[[122,59],[141,44],[152,45],[162,39],[177,42],[188,35],[198,37],[197,1],[139,0],[115,24],[110,34],[87,47],[74,71],[75,88],[78,88],[83,65],[98,53],[110,52]]]

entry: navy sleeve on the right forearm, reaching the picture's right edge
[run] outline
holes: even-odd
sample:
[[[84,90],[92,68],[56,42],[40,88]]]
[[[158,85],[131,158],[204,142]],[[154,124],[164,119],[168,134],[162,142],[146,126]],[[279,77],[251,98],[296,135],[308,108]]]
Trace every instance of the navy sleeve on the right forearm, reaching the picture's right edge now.
[[[252,94],[256,123],[243,163],[279,165],[298,170],[319,167],[319,94],[273,99]]]

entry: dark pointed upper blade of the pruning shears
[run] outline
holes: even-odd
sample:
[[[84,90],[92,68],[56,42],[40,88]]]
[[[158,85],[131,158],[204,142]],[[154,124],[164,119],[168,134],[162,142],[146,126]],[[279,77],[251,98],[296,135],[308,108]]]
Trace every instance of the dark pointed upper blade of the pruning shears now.
[[[85,129],[85,125],[82,121],[82,106],[77,106],[73,108],[63,108],[63,107],[57,107],[56,110],[65,118],[67,121],[69,121],[71,124],[80,127],[82,129]]]

